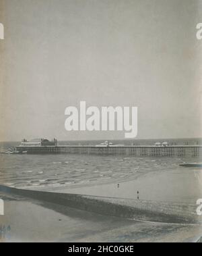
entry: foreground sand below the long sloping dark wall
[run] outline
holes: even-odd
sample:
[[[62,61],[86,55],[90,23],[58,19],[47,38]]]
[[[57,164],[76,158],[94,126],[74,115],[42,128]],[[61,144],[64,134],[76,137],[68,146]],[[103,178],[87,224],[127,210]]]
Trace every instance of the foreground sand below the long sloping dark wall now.
[[[0,198],[5,203],[5,215],[0,215],[0,226],[5,226],[2,242],[195,242],[202,234],[197,223],[139,222],[2,189]]]

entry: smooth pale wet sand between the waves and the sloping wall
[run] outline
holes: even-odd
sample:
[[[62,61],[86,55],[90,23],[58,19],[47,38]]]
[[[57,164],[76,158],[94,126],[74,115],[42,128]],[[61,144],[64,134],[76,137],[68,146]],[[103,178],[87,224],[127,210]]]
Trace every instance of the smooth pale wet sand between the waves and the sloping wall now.
[[[75,193],[101,197],[119,197],[149,201],[193,203],[202,198],[201,168],[178,168],[164,172],[149,172],[126,182],[77,186],[71,188],[38,188],[58,193]],[[139,192],[137,194],[137,191]]]

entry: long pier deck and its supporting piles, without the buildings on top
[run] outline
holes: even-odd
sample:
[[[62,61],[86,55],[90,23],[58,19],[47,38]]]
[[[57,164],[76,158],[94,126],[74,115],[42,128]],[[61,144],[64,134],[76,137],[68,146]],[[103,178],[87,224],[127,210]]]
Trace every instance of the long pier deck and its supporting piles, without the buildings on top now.
[[[20,153],[73,153],[94,155],[134,155],[137,157],[197,157],[202,155],[202,145],[172,145],[172,146],[110,146],[98,147],[92,145],[57,145],[57,146],[24,146],[16,147]]]

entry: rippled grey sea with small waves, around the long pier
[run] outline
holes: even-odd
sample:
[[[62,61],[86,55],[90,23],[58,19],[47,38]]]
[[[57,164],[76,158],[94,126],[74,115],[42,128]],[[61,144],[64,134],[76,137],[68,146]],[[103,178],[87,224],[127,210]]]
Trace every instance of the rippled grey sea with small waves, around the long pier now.
[[[77,144],[79,143],[83,144],[83,142],[77,142]],[[93,143],[97,144],[98,141]],[[183,143],[187,143],[187,141],[182,140],[178,144]],[[3,143],[1,149],[19,144]],[[67,142],[63,142],[63,144],[67,144]],[[197,158],[190,157],[0,154],[0,184],[30,189],[90,186],[131,180],[148,172],[174,170],[178,168],[179,163],[197,160]]]

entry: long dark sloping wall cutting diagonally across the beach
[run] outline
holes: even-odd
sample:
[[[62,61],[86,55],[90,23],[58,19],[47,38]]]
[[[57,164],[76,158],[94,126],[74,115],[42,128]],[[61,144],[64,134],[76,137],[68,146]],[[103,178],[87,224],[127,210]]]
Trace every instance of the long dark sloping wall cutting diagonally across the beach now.
[[[201,218],[195,211],[195,204],[171,203],[163,201],[145,201],[120,199],[114,197],[96,197],[70,193],[53,193],[37,190],[24,190],[0,185],[0,193],[19,195],[24,198],[54,203],[91,211],[102,215],[125,217],[149,222],[176,224],[201,224]]]

